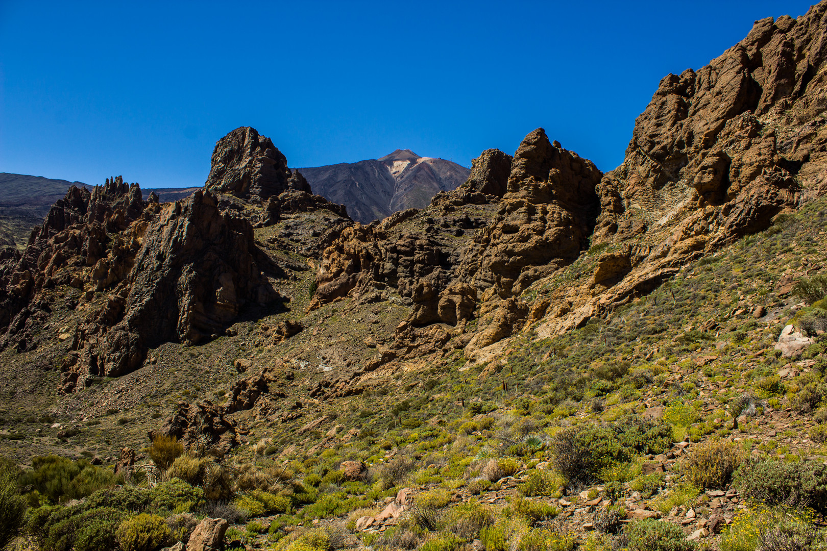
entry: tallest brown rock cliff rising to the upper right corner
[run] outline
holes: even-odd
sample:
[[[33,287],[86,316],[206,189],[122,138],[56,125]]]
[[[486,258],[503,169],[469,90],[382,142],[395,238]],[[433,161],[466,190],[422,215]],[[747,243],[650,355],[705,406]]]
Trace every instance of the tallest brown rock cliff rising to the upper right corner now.
[[[624,164],[600,184],[600,240],[706,206],[715,207],[707,219],[723,219],[715,240],[731,240],[796,205],[796,175],[825,150],[816,116],[825,107],[825,11],[756,21],[709,65],[662,79]]]

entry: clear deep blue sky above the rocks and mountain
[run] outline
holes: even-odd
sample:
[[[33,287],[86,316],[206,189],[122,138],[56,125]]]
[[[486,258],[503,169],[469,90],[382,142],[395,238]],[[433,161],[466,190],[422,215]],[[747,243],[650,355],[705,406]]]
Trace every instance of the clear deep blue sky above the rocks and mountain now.
[[[809,5],[0,0],[0,172],[199,186],[237,126],[290,166],[469,166],[543,126],[609,170],[664,75]]]

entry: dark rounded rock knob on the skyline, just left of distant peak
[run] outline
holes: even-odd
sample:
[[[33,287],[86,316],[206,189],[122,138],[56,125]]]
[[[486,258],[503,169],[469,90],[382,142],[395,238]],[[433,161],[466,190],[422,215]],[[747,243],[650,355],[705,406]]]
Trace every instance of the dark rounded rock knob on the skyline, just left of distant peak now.
[[[218,140],[204,188],[251,202],[288,189],[310,193],[307,180],[287,168],[287,159],[272,140],[251,126],[240,126]]]

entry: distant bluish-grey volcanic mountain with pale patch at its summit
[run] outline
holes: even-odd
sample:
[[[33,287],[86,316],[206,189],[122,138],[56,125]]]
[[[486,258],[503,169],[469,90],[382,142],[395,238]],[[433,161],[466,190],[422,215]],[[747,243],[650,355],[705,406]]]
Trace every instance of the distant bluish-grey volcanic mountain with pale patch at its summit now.
[[[452,191],[468,169],[445,159],[395,150],[380,159],[298,169],[310,187],[342,203],[353,220],[367,224],[409,208],[427,207],[438,192]]]

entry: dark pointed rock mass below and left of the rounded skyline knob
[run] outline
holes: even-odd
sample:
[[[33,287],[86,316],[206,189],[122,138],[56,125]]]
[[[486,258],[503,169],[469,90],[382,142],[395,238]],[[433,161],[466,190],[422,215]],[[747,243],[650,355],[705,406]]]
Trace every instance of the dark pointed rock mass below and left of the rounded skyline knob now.
[[[245,304],[279,298],[261,273],[270,260],[257,249],[250,223],[219,211],[209,192],[165,205],[140,230],[127,278],[75,335],[61,392],[92,376],[134,371],[147,347],[222,335]],[[117,266],[114,259],[100,263],[105,268],[96,265],[93,278]]]

